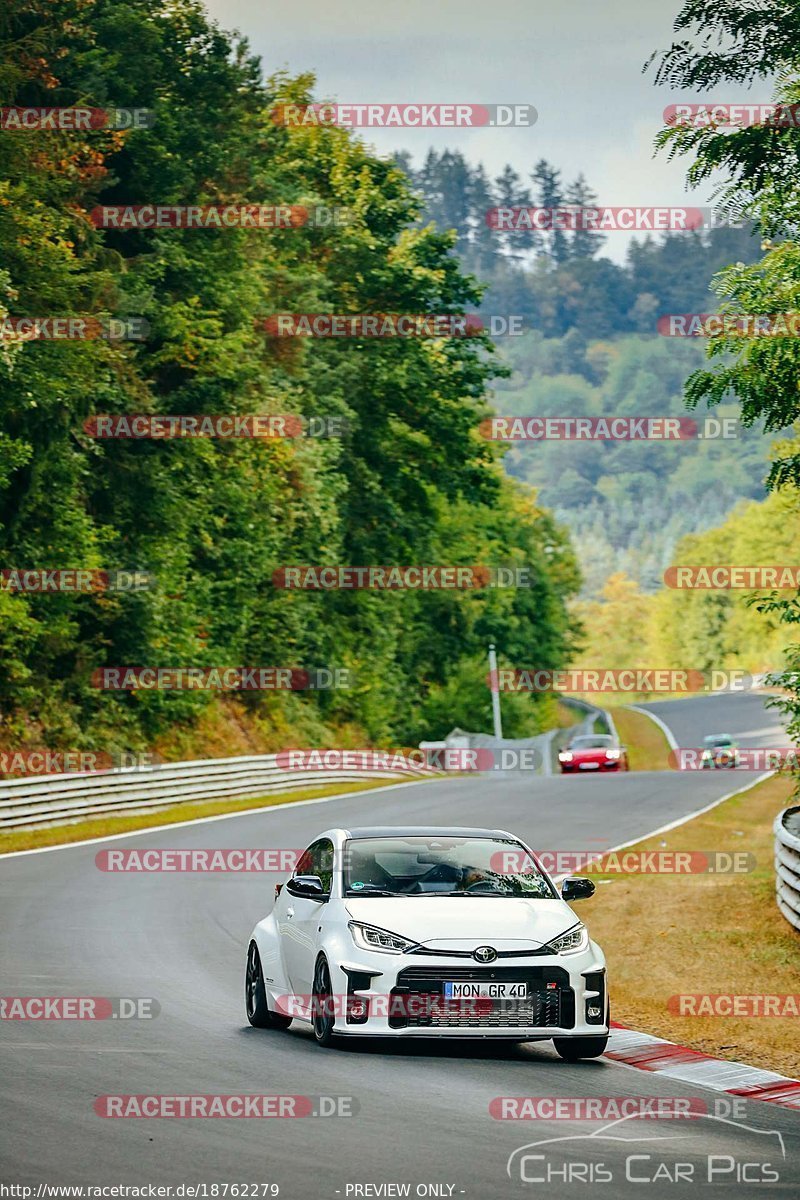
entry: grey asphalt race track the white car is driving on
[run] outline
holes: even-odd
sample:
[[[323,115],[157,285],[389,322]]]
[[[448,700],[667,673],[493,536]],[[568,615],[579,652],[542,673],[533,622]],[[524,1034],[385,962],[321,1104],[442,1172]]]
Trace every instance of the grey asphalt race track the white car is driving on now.
[[[708,732],[736,733],[744,745],[781,744],[778,719],[754,695],[652,709],[681,745],[696,745]],[[602,850],[678,821],[750,778],[721,770],[453,779],[154,830],[115,845],[294,848],[329,826],[369,821],[494,826],[518,832],[536,848]],[[604,1135],[602,1123],[585,1120],[498,1121],[489,1103],[500,1096],[690,1097],[711,1114],[723,1098],[607,1060],[567,1064],[549,1043],[320,1050],[299,1024],[288,1032],[251,1028],[242,1003],[245,950],[252,925],[271,906],[276,877],[109,875],[95,865],[103,845],[0,860],[0,994],[150,996],[161,1012],[155,1020],[0,1021],[4,1183],[32,1186],[34,1196],[40,1183],[205,1183],[209,1196],[213,1183],[276,1183],[287,1200],[800,1194],[800,1114],[775,1105],[741,1102],[744,1115],[734,1123],[714,1116],[634,1120]],[[610,989],[613,1000],[613,979]],[[263,1092],[349,1096],[359,1111],[300,1120],[109,1120],[92,1108],[109,1093]],[[506,1174],[518,1147],[564,1136],[578,1140],[536,1147],[529,1154],[542,1158],[522,1160],[524,1176],[549,1182],[523,1182],[521,1156]],[[714,1183],[706,1182],[709,1156],[722,1156],[711,1162]],[[766,1182],[772,1171],[777,1182]],[[269,1193],[248,1193],[255,1194]]]

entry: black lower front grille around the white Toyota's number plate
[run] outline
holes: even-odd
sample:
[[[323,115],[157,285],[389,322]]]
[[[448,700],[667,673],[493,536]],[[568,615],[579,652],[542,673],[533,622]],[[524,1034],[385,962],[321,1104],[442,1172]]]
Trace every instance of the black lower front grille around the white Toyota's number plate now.
[[[528,995],[513,1000],[446,1000],[444,984],[464,980],[525,983]],[[396,1030],[499,1030],[523,1025],[571,1030],[575,992],[563,967],[407,967],[392,989],[389,1024]]]

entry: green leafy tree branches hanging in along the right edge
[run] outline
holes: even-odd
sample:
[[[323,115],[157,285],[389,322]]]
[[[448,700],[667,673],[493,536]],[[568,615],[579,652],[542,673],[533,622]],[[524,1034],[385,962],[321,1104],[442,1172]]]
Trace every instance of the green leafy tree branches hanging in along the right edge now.
[[[732,316],[762,314],[771,318],[800,310],[800,131],[790,106],[800,101],[800,8],[793,0],[688,0],[676,29],[691,31],[694,41],[674,43],[662,55],[656,82],[673,88],[699,85],[711,89],[721,82],[752,83],[776,78],[776,119],[722,133],[715,125],[694,130],[663,130],[657,144],[670,155],[691,156],[687,179],[692,185],[722,178],[717,187],[720,211],[727,217],[745,216],[766,239],[763,259],[735,263],[721,271],[715,288],[721,310]],[[752,336],[747,328],[732,329],[709,340],[709,359],[716,365],[696,371],[686,384],[690,407],[702,401],[718,404],[734,395],[742,420],[764,421],[768,432],[784,430],[800,418],[798,376],[800,350],[796,336]],[[796,439],[783,439],[769,475],[769,486],[784,490],[796,508],[800,484],[800,451]],[[780,617],[793,628],[798,600],[775,594],[754,600],[772,623]],[[788,696],[781,707],[792,716],[790,732],[800,732],[800,650],[790,647],[781,677]]]

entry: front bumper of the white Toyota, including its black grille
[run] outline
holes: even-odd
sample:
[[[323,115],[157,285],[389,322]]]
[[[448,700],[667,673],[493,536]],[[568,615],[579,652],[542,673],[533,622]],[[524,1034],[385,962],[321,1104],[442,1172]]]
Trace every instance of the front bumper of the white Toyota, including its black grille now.
[[[594,942],[578,954],[501,954],[488,966],[446,954],[360,950],[331,974],[347,997],[335,1019],[336,1032],[345,1036],[527,1042],[608,1033],[606,964]],[[524,983],[527,996],[451,1001],[444,995],[449,980]]]

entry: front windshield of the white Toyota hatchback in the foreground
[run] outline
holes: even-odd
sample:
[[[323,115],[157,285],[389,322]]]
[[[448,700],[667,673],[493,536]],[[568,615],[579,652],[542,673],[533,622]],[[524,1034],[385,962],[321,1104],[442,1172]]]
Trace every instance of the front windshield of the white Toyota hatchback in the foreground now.
[[[558,896],[519,842],[456,836],[351,839],[344,847],[344,894]]]

